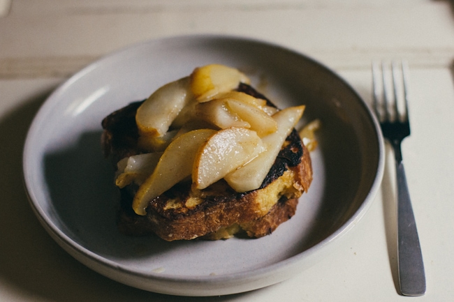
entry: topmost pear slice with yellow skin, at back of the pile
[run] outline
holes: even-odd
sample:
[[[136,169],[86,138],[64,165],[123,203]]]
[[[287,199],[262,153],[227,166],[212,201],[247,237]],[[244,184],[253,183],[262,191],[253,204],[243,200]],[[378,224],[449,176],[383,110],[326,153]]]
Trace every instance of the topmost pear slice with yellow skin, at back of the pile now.
[[[236,68],[210,64],[193,71],[191,91],[199,102],[207,102],[219,93],[226,93],[237,88],[240,82],[249,83],[250,80]]]

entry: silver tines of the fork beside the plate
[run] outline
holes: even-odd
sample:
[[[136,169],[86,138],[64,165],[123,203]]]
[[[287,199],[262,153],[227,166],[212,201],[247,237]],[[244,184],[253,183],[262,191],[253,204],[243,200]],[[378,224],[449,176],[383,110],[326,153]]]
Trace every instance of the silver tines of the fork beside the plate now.
[[[408,121],[407,61],[374,62],[374,111],[379,121]]]

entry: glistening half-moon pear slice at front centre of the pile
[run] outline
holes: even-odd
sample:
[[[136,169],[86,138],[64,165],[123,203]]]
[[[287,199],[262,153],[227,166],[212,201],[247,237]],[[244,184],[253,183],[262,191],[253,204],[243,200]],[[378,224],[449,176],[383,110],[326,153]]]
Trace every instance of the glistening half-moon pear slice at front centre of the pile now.
[[[199,149],[193,165],[193,188],[204,189],[263,152],[257,133],[247,128],[219,130]]]

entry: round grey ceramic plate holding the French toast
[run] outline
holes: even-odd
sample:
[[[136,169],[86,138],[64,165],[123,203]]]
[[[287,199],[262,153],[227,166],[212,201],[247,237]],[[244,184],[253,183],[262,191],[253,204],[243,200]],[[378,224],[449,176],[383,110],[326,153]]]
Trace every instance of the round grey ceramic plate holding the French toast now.
[[[262,239],[168,243],[119,234],[101,120],[208,63],[240,68],[280,107],[305,104],[303,123],[321,119],[312,187],[295,216]],[[222,36],[152,40],[96,61],[47,99],[24,149],[31,206],[62,248],[126,285],[189,296],[265,287],[314,264],[363,216],[382,174],[379,126],[349,84],[297,52]]]

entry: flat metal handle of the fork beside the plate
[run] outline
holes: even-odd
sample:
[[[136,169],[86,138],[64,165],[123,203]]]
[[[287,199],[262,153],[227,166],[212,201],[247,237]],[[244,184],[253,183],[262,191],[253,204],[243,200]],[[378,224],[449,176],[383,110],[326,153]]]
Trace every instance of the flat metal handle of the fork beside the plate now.
[[[400,146],[396,153],[400,153]],[[425,273],[418,230],[411,207],[404,164],[397,158],[397,264],[399,270],[400,292],[404,296],[425,294]]]

